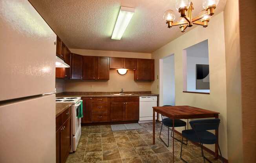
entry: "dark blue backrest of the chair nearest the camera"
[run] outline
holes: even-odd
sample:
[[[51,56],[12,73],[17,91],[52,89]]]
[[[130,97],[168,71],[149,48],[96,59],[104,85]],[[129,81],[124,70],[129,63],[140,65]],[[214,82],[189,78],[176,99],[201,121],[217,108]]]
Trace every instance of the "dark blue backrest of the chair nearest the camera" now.
[[[194,120],[190,121],[190,126],[195,131],[205,131],[205,130],[217,130],[219,128],[219,119],[207,119],[207,120]]]

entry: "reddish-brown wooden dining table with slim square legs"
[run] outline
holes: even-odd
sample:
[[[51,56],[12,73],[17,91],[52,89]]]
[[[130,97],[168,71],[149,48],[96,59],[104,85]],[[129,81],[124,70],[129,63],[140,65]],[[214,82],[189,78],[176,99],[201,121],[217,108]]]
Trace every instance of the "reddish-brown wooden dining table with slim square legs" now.
[[[166,107],[153,107],[153,144],[155,144],[155,112],[162,114],[172,119],[172,127],[174,128],[174,120],[176,119],[195,119],[195,118],[219,118],[219,112],[201,109],[191,106],[166,106]],[[218,158],[218,130],[215,130],[217,136],[217,143],[215,144],[215,158]],[[174,162],[174,132],[172,139],[172,157]]]

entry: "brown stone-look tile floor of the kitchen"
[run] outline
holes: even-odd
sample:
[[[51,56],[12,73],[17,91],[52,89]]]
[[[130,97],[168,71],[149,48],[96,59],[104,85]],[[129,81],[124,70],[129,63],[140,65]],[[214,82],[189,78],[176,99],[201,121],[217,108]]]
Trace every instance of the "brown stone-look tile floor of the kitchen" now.
[[[156,123],[155,145],[152,145],[152,123],[140,125],[143,129],[115,132],[110,125],[82,127],[77,151],[69,154],[66,163],[172,163],[172,139],[168,148],[159,139],[161,123]],[[168,129],[163,127],[161,138],[165,141],[167,133]],[[181,139],[177,134],[176,138]],[[175,140],[174,144],[175,162],[183,163],[179,157],[181,143]],[[183,147],[183,159],[188,163],[203,163],[201,148],[191,142]],[[221,163],[208,152],[204,154],[213,163]]]

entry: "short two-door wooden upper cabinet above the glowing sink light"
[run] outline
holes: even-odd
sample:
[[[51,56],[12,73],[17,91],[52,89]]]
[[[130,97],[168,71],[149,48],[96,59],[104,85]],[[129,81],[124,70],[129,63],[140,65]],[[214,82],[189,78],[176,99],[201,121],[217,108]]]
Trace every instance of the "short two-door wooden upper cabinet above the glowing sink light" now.
[[[110,57],[110,69],[136,69],[136,58]]]

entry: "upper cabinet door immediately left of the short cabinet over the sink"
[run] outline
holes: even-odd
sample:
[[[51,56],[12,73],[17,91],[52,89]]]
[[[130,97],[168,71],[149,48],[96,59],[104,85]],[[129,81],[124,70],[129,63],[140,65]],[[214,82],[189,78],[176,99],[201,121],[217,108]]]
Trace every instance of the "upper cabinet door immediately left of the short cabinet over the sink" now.
[[[109,57],[98,57],[97,80],[109,80]]]

